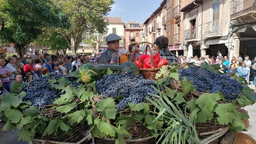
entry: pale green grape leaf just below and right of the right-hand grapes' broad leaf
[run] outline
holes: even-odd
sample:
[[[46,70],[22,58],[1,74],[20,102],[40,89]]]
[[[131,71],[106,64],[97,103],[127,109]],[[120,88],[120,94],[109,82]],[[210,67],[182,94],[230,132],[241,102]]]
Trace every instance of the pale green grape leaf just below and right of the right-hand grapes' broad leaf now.
[[[219,117],[225,117],[226,115],[229,114],[231,111],[236,111],[236,105],[232,103],[227,103],[227,104],[218,104],[218,106],[215,108],[216,114],[219,115]],[[227,122],[228,123],[228,122]]]

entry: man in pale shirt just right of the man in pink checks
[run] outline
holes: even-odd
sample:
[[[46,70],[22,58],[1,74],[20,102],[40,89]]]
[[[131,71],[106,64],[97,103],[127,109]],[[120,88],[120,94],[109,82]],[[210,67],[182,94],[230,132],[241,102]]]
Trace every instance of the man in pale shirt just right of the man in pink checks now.
[[[14,79],[15,74],[20,74],[20,73],[21,73],[21,69],[20,69],[19,67],[17,67],[17,65],[15,65],[15,63],[16,63],[16,58],[14,58],[14,57],[9,57],[9,58],[8,58],[8,61],[9,61],[9,63],[6,65],[6,67],[8,68],[8,70],[9,70],[10,72],[13,73],[13,75],[11,75],[11,76],[9,77],[10,83],[12,83],[13,81],[15,81],[15,79]],[[9,83],[9,84],[10,84],[10,83]]]

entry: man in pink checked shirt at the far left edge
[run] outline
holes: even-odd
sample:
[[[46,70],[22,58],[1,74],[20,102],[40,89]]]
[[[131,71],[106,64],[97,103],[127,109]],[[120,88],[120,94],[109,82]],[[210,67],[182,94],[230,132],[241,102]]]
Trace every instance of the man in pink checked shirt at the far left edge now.
[[[12,72],[10,72],[8,70],[7,67],[4,66],[5,65],[5,61],[4,59],[0,59],[0,79],[3,83],[3,87],[10,92],[10,76],[13,75]]]

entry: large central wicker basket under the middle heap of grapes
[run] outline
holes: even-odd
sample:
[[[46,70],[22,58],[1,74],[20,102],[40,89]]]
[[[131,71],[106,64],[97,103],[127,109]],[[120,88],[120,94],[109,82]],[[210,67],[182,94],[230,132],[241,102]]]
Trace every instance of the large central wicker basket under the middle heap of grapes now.
[[[102,100],[102,97],[98,95],[94,95],[93,101],[99,102]],[[95,118],[103,118],[103,116],[96,110],[96,105],[92,104],[94,117]],[[116,105],[117,107],[117,105]],[[124,111],[122,112],[124,115],[130,115],[131,111]],[[110,120],[112,125],[115,125],[115,120]],[[132,138],[131,139],[125,139],[126,143],[131,144],[153,144],[155,141],[155,138],[152,136],[149,129],[147,129],[142,123],[134,123],[131,125],[131,128],[128,131]],[[95,143],[97,144],[115,144],[115,138],[99,138],[95,137]]]

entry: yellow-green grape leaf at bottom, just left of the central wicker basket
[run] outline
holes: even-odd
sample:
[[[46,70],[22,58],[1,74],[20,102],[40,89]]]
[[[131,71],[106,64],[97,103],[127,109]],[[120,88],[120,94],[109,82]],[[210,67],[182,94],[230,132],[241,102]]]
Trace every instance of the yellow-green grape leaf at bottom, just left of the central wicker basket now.
[[[100,132],[115,137],[115,129],[112,125],[109,124],[109,122],[100,121],[98,123],[98,128]]]

